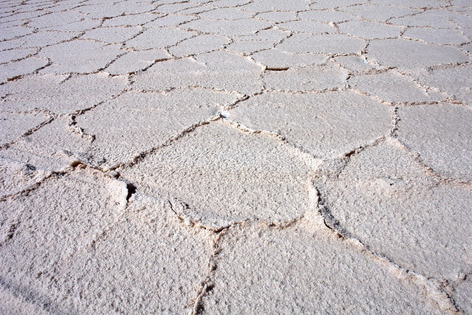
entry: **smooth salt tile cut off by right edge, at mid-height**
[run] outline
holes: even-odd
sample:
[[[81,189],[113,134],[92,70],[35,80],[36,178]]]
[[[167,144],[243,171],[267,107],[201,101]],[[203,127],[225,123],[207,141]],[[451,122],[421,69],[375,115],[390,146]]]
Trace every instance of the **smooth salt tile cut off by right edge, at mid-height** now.
[[[453,104],[417,105],[398,111],[398,138],[445,178],[472,180],[472,110]]]

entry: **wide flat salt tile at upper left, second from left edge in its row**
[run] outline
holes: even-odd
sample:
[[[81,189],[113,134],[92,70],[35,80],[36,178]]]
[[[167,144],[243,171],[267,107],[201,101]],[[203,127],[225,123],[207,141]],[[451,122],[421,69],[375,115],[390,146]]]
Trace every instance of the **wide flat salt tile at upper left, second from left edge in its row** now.
[[[106,45],[87,40],[74,40],[41,49],[38,56],[49,58],[53,65],[42,73],[88,73],[112,62],[120,53],[119,45]]]

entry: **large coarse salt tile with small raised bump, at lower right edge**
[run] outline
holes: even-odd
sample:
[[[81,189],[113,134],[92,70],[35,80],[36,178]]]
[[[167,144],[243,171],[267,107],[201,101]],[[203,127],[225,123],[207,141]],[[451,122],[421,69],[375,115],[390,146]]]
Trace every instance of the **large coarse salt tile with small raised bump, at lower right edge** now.
[[[429,115],[423,113],[414,126],[431,120]],[[436,279],[454,279],[470,266],[472,235],[463,227],[472,224],[472,190],[425,175],[394,140],[351,156],[340,173],[320,176],[315,186],[330,224],[373,252]]]

